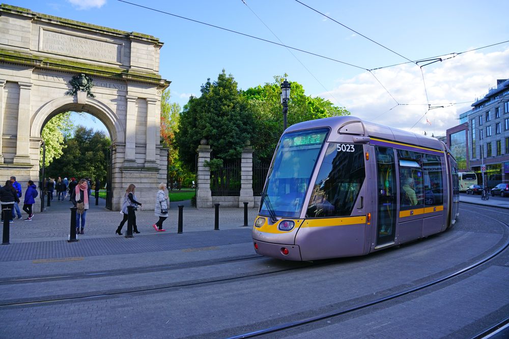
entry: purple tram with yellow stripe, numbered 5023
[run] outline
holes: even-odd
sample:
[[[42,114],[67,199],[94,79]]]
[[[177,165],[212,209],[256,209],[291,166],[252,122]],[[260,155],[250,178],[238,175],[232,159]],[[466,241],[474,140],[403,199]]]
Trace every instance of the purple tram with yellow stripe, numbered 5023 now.
[[[443,232],[458,211],[443,142],[336,116],[281,136],[252,239],[258,254],[284,260],[360,256]]]

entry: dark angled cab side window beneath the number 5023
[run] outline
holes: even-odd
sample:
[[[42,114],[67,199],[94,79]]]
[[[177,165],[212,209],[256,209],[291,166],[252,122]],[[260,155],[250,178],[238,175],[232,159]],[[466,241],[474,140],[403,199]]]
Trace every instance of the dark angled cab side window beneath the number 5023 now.
[[[364,182],[362,145],[329,144],[307,207],[307,218],[351,215]]]

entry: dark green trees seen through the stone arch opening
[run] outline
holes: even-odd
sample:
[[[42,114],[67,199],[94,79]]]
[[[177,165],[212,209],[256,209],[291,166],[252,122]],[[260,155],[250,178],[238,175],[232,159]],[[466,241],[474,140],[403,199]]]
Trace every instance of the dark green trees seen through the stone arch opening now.
[[[111,140],[103,132],[78,126],[66,144],[62,157],[51,163],[46,176],[99,178],[101,182],[106,181],[106,159]]]

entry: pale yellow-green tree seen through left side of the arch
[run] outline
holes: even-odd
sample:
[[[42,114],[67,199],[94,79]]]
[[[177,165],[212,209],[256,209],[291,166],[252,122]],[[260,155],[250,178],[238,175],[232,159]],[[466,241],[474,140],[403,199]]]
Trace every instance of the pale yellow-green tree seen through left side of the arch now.
[[[59,159],[64,154],[67,147],[65,143],[66,137],[71,135],[73,124],[70,119],[71,113],[65,112],[53,116],[46,122],[41,132],[42,140],[46,145],[45,165],[49,166],[55,159]],[[39,152],[39,165],[42,166],[43,148]]]

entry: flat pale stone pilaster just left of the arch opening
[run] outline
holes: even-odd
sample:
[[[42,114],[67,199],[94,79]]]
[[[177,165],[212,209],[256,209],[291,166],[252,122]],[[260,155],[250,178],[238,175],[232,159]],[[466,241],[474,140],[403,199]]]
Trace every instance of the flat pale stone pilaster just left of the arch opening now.
[[[19,82],[18,132],[15,164],[30,164],[30,94],[32,84]]]

